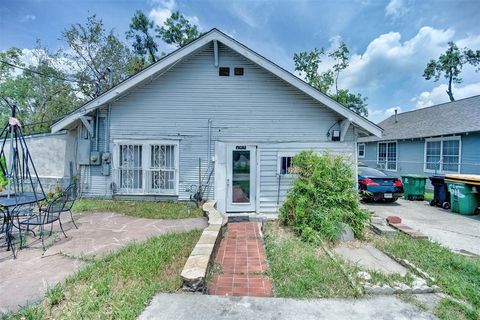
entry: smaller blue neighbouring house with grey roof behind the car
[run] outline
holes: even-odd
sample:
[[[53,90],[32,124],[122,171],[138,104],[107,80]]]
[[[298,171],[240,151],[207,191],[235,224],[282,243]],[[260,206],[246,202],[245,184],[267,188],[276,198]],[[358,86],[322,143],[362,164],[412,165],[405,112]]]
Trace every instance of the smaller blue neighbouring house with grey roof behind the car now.
[[[360,138],[358,159],[389,175],[480,174],[480,95],[393,115],[381,138]]]

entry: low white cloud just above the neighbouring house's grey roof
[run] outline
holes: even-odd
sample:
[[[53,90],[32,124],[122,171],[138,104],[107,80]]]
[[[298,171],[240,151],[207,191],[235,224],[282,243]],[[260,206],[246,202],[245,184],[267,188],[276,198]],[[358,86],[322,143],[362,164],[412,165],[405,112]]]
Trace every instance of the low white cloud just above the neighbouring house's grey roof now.
[[[425,108],[439,103],[450,101],[446,93],[448,86],[440,84],[431,91],[424,91],[412,100],[416,102],[415,108]],[[463,99],[480,94],[480,82],[467,84],[463,87],[453,86],[453,96],[455,99]]]

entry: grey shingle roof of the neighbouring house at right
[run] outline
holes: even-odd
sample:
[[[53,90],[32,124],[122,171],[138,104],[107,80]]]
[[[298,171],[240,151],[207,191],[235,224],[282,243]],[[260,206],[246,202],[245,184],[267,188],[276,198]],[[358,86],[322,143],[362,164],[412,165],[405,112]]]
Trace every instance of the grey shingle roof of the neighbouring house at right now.
[[[480,131],[480,95],[399,113],[378,124],[381,138],[366,137],[361,142],[413,139]]]

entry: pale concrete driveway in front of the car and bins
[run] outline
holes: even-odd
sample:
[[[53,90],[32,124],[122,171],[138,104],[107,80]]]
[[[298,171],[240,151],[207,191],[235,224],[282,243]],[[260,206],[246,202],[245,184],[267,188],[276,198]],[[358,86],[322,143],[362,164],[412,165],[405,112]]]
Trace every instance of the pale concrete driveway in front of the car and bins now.
[[[418,229],[451,250],[480,256],[480,215],[463,216],[426,201],[399,199],[396,203],[362,204],[380,217],[399,216],[402,223]]]

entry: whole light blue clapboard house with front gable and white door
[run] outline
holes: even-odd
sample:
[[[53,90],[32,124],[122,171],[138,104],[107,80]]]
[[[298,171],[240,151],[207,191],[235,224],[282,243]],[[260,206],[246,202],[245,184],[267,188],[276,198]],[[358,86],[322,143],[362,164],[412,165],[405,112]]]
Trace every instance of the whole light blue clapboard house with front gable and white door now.
[[[291,157],[356,157],[381,129],[213,29],[53,125],[75,136],[75,175],[91,197],[189,200],[275,213]]]

